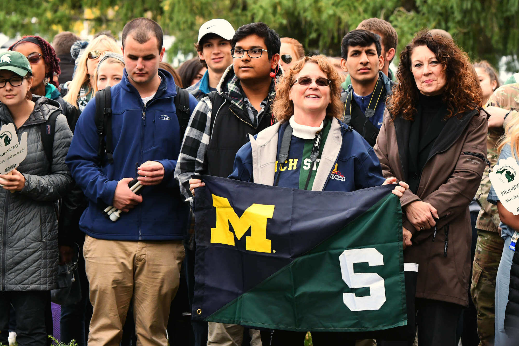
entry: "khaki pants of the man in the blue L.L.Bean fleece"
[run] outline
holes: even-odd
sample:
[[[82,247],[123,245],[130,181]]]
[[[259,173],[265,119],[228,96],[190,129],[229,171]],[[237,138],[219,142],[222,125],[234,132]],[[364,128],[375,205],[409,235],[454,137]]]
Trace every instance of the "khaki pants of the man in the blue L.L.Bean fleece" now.
[[[119,345],[133,303],[137,345],[167,345],[171,301],[185,256],[182,241],[109,241],[85,236],[93,306],[88,344]]]

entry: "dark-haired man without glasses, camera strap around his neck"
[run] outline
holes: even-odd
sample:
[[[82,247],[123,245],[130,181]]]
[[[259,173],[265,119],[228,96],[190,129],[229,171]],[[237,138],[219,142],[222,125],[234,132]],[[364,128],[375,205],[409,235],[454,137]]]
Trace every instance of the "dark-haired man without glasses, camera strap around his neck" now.
[[[344,122],[374,147],[386,97],[394,84],[381,71],[384,58],[380,36],[367,30],[352,30],[344,36],[340,50],[340,66],[351,77],[351,85],[341,96],[345,103]]]

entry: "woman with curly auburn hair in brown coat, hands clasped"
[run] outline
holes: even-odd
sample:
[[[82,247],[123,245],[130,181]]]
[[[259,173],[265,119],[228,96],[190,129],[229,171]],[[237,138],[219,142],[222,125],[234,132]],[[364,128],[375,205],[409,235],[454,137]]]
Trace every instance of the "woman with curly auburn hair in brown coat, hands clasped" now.
[[[487,119],[467,55],[452,39],[421,32],[400,54],[393,94],[375,145],[384,177],[409,184],[404,261],[419,264],[418,344],[455,345],[468,305],[469,203],[486,165]]]

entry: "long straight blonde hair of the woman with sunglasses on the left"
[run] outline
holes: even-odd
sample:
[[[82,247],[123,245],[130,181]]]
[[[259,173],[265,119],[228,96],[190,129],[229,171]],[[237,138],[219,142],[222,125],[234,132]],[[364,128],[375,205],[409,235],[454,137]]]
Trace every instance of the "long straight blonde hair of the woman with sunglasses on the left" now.
[[[69,84],[69,92],[67,92],[63,98],[63,100],[69,102],[76,108],[77,98],[79,97],[79,90],[81,89],[81,86],[87,82],[90,82],[90,77],[87,70],[87,59],[89,52],[93,50],[100,50],[102,52],[113,51],[119,54],[121,53],[121,47],[117,45],[113,38],[110,38],[106,35],[100,35],[90,41],[88,46],[85,48],[85,51],[83,51],[83,54],[78,58],[79,60],[77,63],[76,72],[74,73],[74,78],[72,78],[72,82]],[[91,90],[93,90],[92,86],[89,85],[88,92],[91,92]]]

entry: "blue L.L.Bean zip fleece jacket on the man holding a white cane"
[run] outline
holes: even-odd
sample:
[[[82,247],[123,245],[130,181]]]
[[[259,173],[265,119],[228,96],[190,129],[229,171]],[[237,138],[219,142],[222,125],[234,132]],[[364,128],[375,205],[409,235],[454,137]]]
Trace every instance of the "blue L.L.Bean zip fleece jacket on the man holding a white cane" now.
[[[97,164],[95,98],[78,119],[66,164],[89,199],[79,228],[94,238],[157,241],[183,239],[186,235],[189,207],[173,178],[182,144],[174,103],[176,89],[171,74],[165,70],[158,74],[160,86],[146,106],[128,81],[126,69],[122,81],[112,87],[113,164]],[[196,104],[190,95],[190,112]],[[158,185],[143,187],[139,191],[143,202],[122,213],[116,222],[111,221],[103,209],[112,205],[117,182],[134,178],[136,167],[146,161],[161,163],[164,179]]]

